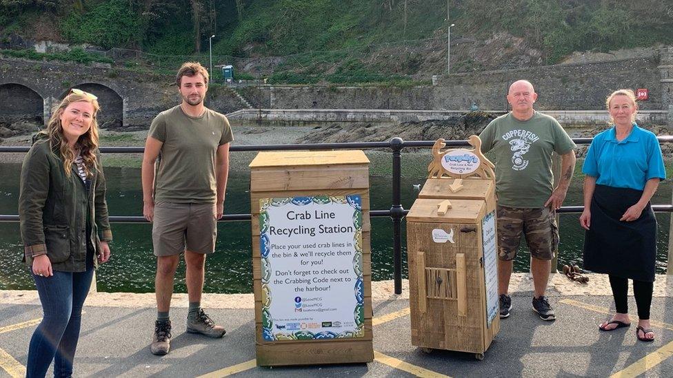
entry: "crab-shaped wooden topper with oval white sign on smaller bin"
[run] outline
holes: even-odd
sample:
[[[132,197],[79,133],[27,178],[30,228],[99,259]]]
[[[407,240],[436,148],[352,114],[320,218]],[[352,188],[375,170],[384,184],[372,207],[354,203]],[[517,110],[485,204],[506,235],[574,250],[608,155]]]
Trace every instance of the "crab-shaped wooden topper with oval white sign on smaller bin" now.
[[[468,143],[474,149],[445,149],[446,143],[438,139],[432,146],[432,162],[428,165],[428,178],[479,177],[495,180],[495,166],[481,153],[481,139],[472,135]]]

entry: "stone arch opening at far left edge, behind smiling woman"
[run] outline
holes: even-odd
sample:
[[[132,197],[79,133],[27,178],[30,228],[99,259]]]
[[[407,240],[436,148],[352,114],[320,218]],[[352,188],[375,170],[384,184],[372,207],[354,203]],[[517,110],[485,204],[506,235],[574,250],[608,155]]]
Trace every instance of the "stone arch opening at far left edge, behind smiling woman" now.
[[[30,134],[44,125],[44,99],[23,83],[0,84],[0,137]]]

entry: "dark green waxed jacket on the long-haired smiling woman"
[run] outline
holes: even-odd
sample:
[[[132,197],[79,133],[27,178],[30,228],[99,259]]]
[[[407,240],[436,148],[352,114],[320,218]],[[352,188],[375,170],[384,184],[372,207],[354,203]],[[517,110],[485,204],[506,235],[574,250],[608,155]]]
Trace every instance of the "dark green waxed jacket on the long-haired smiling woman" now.
[[[86,220],[91,222],[91,244],[100,253],[99,240],[112,240],[106,203],[106,181],[100,155],[97,171],[87,193],[84,182],[72,163],[70,177],[63,171],[58,151],[50,149],[49,140],[37,140],[21,166],[19,221],[23,240],[23,261],[46,253],[54,271],[86,271]]]

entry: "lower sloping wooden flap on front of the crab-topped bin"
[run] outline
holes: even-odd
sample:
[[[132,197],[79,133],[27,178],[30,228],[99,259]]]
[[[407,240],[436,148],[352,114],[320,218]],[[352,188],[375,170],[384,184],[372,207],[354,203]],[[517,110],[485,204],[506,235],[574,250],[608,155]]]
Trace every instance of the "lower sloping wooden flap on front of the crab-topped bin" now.
[[[407,214],[407,222],[476,223],[483,218],[486,204],[481,200],[449,200],[451,208],[440,216],[437,210],[443,201],[419,198]]]

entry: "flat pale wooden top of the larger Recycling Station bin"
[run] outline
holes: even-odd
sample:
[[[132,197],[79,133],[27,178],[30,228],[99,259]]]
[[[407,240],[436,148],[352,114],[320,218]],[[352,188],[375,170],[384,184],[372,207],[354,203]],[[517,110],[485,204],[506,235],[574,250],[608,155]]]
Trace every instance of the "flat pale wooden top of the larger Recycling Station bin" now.
[[[250,162],[250,168],[348,164],[369,164],[369,159],[361,150],[263,151]]]

